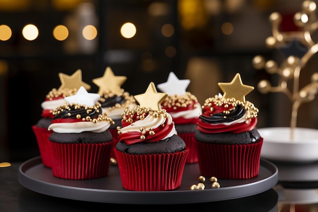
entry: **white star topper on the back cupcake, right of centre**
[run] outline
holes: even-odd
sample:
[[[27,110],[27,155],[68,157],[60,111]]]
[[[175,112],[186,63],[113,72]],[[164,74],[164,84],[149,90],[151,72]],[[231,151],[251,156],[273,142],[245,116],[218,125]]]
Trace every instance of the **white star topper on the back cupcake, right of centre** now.
[[[157,87],[168,95],[185,95],[189,83],[189,79],[178,79],[173,72],[170,72],[167,82],[157,84]]]

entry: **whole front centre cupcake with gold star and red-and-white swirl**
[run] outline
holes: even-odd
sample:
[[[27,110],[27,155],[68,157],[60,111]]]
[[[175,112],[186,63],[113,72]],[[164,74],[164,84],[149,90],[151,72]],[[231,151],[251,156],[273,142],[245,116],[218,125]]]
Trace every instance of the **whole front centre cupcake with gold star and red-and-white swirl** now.
[[[161,109],[167,94],[151,82],[140,105],[122,113],[119,142],[114,148],[121,183],[131,191],[169,191],[181,185],[189,150],[175,131],[172,117]]]

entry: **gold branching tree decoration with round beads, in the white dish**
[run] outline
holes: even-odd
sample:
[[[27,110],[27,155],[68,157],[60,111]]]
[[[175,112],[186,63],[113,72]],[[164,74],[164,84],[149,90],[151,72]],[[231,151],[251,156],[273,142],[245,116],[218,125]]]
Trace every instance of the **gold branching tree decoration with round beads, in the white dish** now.
[[[302,3],[302,11],[294,15],[294,23],[300,31],[280,32],[279,25],[282,17],[278,12],[269,16],[272,25],[272,36],[265,41],[268,48],[276,48],[285,54],[285,58],[278,66],[274,60],[265,61],[261,55],[252,60],[256,69],[265,69],[269,74],[278,74],[278,84],[272,86],[268,80],[258,83],[260,93],[280,92],[285,94],[292,102],[291,115],[291,139],[294,138],[294,129],[297,124],[299,106],[304,102],[310,102],[315,98],[318,90],[318,73],[313,73],[311,81],[306,86],[299,88],[299,77],[308,60],[318,51],[318,43],[311,38],[313,32],[318,28],[316,20],[316,4],[312,1]],[[288,83],[293,83],[292,89]]]

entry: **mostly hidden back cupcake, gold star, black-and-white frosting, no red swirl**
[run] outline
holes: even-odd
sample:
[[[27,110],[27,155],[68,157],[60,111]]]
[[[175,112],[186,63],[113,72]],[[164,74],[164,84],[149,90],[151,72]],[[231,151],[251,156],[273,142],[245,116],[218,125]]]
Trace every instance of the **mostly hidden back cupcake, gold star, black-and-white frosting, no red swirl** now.
[[[112,69],[107,67],[103,77],[95,78],[92,82],[99,86],[98,94],[101,95],[99,102],[102,105],[103,112],[112,118],[114,125],[111,125],[109,131],[113,138],[118,142],[117,127],[121,127],[121,113],[125,109],[131,109],[136,105],[133,96],[125,92],[121,85],[126,81],[125,76],[115,76]],[[116,158],[114,152],[111,153],[111,158]]]

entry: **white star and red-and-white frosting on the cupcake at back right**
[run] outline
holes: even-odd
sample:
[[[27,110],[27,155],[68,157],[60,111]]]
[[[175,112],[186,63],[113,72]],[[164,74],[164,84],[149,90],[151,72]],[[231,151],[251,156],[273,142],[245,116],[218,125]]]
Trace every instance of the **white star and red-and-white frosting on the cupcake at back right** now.
[[[167,82],[157,85],[162,92],[168,94],[161,106],[172,116],[176,125],[197,124],[202,114],[197,97],[186,92],[189,83],[190,80],[179,80],[173,72],[170,72]]]

